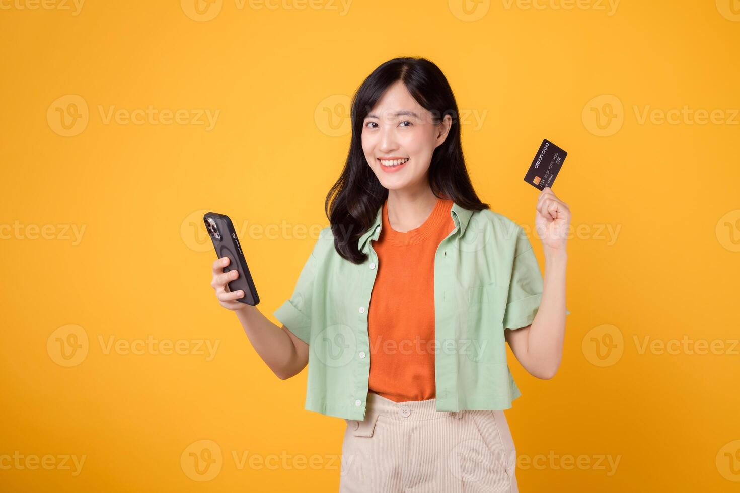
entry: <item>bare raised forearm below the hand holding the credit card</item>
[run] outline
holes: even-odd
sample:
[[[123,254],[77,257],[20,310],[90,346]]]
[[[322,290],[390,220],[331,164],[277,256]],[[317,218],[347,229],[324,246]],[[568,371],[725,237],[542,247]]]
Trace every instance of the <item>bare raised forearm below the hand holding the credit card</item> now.
[[[552,378],[562,359],[565,339],[565,249],[545,248],[542,299],[528,333],[528,358],[537,373]]]

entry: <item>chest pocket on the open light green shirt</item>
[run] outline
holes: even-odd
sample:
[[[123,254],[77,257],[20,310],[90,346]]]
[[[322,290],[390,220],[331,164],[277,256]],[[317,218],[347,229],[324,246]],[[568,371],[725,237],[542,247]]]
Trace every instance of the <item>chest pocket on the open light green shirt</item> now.
[[[468,313],[460,351],[480,363],[505,363],[502,322],[508,289],[495,282],[468,288]],[[467,345],[463,350],[462,344]]]

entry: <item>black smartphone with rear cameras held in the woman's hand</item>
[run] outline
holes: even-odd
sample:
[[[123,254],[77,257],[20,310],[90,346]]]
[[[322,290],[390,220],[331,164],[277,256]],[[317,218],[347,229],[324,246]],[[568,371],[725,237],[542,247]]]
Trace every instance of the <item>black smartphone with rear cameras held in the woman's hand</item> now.
[[[246,266],[246,260],[241,251],[239,239],[236,237],[236,231],[229,216],[207,212],[203,214],[203,222],[206,223],[206,231],[208,231],[211,237],[213,248],[216,249],[217,258],[220,259],[222,256],[229,257],[229,265],[223,268],[223,272],[229,272],[235,269],[239,271],[239,276],[233,281],[229,281],[229,290],[232,293],[238,290],[244,291],[244,296],[236,301],[245,305],[258,305],[260,296],[257,294],[255,282],[252,280],[252,275]]]

